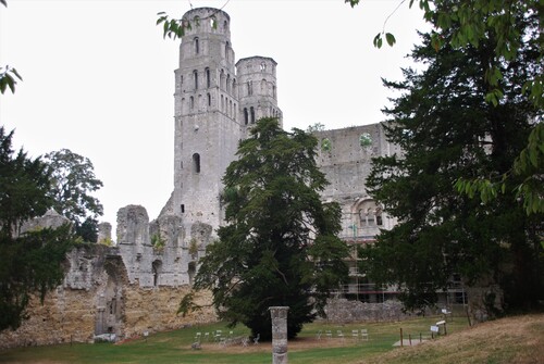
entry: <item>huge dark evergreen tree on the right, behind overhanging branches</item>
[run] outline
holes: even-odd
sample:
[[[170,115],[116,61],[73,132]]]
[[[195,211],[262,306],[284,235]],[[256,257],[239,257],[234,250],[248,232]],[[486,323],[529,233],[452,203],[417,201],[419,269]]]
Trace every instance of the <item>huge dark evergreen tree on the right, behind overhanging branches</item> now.
[[[512,22],[520,48],[510,62],[497,60],[496,39],[457,48],[452,45],[456,30],[442,30],[438,52],[428,34],[411,54],[428,64],[425,71],[405,70],[404,81],[385,81],[403,92],[385,110],[391,118],[385,129],[404,153],[374,159],[367,185],[399,223],[361,253],[373,279],[400,284],[408,309],[435,303],[436,291],[456,274],[469,287],[486,287],[482,302],[472,303],[491,316],[495,309],[527,307],[543,299],[542,213],[528,215],[516,202],[524,177],[511,174],[502,193],[481,201],[454,188],[459,178],[507,174],[542,117],[542,109],[520,92],[523,80],[542,73],[540,51],[523,41],[539,29],[539,17],[517,14]],[[493,68],[502,74],[497,104],[485,100]],[[503,292],[504,304],[497,306]]]

